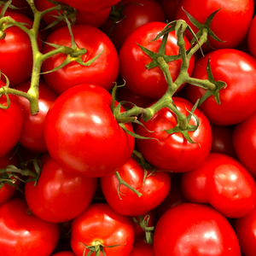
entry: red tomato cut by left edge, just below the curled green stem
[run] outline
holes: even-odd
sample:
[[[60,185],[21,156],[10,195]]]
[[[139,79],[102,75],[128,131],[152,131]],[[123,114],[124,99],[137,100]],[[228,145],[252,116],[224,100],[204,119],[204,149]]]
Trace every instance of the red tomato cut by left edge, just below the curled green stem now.
[[[0,80],[0,86],[4,85]],[[7,109],[0,108],[0,119],[3,120],[0,132],[4,136],[0,139],[0,157],[8,154],[10,150],[15,148],[16,143],[19,142],[20,133],[24,123],[23,108],[17,96],[9,95],[10,107]],[[8,102],[6,96],[0,97],[0,104],[7,107]]]

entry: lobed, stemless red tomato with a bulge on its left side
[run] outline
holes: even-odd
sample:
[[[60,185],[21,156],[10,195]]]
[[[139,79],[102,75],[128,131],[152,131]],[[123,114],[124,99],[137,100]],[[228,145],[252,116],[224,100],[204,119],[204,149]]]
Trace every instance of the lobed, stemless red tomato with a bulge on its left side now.
[[[238,160],[210,153],[201,166],[183,173],[183,195],[195,203],[209,203],[228,218],[241,218],[256,205],[256,183]]]

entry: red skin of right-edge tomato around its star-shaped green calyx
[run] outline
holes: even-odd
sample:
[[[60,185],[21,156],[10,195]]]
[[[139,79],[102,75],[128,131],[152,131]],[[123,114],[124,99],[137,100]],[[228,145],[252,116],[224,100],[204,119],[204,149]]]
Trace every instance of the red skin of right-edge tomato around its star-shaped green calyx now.
[[[201,104],[201,111],[213,125],[235,125],[247,119],[256,110],[256,60],[238,49],[217,49],[195,62],[192,77],[207,79],[207,61],[213,78],[227,87],[219,91],[220,105],[213,96]],[[196,102],[205,89],[187,84],[189,102]]]

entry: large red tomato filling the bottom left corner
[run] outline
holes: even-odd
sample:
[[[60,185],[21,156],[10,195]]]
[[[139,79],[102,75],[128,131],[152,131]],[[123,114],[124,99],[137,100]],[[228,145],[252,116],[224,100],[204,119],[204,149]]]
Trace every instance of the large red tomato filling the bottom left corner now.
[[[0,253],[4,256],[50,255],[59,240],[58,224],[30,212],[25,199],[15,198],[0,207]]]

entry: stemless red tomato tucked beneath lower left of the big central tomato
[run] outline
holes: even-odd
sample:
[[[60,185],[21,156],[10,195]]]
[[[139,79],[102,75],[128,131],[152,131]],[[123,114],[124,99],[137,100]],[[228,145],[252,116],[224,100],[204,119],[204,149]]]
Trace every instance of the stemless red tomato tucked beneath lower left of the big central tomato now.
[[[38,218],[53,223],[67,222],[89,207],[96,185],[97,178],[73,176],[50,158],[37,185],[26,183],[26,202]]]

